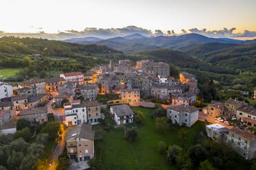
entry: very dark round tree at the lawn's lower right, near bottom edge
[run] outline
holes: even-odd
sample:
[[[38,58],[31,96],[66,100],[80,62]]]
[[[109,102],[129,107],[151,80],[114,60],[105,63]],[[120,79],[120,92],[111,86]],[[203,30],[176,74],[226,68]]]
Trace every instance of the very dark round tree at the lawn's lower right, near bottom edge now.
[[[189,149],[189,157],[194,167],[198,167],[200,162],[206,160],[207,152],[201,145],[195,145]]]

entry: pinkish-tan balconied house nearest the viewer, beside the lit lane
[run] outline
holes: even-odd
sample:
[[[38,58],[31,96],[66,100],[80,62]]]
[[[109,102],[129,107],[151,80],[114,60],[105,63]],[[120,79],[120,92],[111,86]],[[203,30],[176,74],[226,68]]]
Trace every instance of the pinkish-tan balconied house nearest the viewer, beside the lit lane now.
[[[87,161],[94,158],[94,132],[92,125],[82,123],[72,127],[65,137],[67,156],[70,159]]]

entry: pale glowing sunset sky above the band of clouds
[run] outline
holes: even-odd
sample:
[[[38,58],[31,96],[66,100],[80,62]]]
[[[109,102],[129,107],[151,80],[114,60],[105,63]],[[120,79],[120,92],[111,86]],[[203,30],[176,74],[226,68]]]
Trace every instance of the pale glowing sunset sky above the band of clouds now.
[[[136,25],[162,31],[256,31],[256,0],[1,0],[0,31],[81,31]]]

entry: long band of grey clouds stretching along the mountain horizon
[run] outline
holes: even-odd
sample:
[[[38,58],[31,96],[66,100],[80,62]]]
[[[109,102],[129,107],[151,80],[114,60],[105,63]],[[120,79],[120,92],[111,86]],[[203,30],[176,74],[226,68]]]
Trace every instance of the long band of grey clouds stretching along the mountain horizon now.
[[[69,38],[83,38],[94,36],[98,38],[114,38],[116,36],[128,36],[131,34],[141,34],[142,36],[178,36],[181,34],[187,33],[196,33],[202,34],[204,36],[213,37],[213,38],[235,38],[235,37],[255,37],[256,31],[249,31],[244,30],[243,33],[234,33],[235,27],[228,29],[224,27],[223,29],[219,30],[207,30],[192,28],[189,30],[182,29],[181,33],[175,33],[173,30],[167,30],[167,32],[163,32],[160,29],[156,29],[155,31],[151,31],[150,29],[144,29],[142,27],[136,27],[134,25],[122,28],[96,28],[96,27],[86,27],[82,31],[77,31],[74,29],[65,30],[65,31],[58,31],[56,34],[49,34],[41,31],[38,33],[6,33],[0,31],[0,37],[2,36],[19,36],[19,37],[34,37],[34,38],[47,38],[50,40],[65,40]]]

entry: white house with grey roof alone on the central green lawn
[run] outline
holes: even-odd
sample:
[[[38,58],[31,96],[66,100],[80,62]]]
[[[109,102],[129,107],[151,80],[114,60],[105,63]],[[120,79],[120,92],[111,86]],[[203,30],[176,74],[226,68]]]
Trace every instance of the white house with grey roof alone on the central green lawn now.
[[[111,118],[114,119],[116,125],[125,125],[134,123],[134,112],[126,105],[118,105],[110,107]]]

